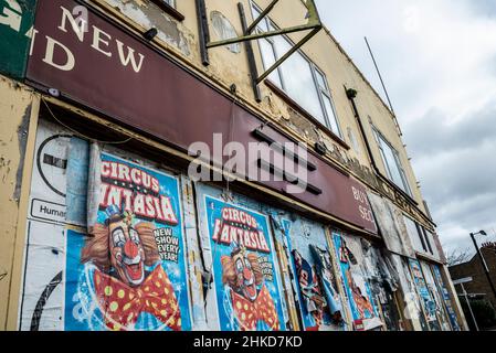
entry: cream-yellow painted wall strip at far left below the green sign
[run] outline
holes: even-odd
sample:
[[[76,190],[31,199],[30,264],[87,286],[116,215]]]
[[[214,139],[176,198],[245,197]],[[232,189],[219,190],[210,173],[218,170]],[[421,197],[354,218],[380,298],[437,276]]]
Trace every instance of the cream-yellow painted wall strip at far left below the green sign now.
[[[7,324],[19,199],[32,107],[32,93],[0,76],[0,329],[4,329]]]

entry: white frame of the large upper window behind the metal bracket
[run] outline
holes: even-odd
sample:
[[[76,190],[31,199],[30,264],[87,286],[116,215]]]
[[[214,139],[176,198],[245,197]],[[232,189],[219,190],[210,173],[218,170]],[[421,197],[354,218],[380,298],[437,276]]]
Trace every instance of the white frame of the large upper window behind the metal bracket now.
[[[250,8],[251,8],[250,12],[251,12],[251,15],[252,15],[252,20],[255,20],[254,12],[256,12],[260,15],[262,13],[262,10],[253,0],[250,0]],[[279,29],[277,26],[277,24],[268,15],[266,15],[261,21],[261,23],[262,22],[265,23],[265,25],[263,25],[263,26],[265,26],[268,31],[271,31],[271,28],[273,28],[275,30]],[[263,28],[261,28],[261,23],[258,23],[257,26],[256,26],[256,31],[258,33],[263,33]],[[288,43],[289,46],[294,46],[295,45],[295,43],[287,35],[282,34],[281,36]],[[275,45],[275,41],[272,38],[260,39],[258,41],[267,41],[268,42],[268,44],[272,47],[272,52],[273,52],[274,57],[275,57],[276,61],[279,60],[284,55],[284,53],[282,55],[279,55],[279,53],[277,52],[277,47]],[[266,60],[264,58],[264,55],[263,55],[262,50],[260,47],[260,43],[257,43],[257,44],[258,44],[260,56],[262,57],[262,64],[263,64],[264,68],[266,69],[266,68],[268,68],[266,66],[266,63],[265,63]],[[331,93],[330,87],[329,87],[329,82],[327,79],[327,75],[302,50],[298,50],[296,53],[302,55],[302,57],[307,62],[308,67],[310,69],[312,78],[314,81],[314,88],[315,88],[316,94],[318,96],[318,101],[320,104],[320,110],[323,113],[324,122],[321,122],[319,119],[314,117],[314,115],[308,113],[307,109],[305,109],[303,106],[302,106],[302,108],[305,110],[306,115],[312,117],[313,120],[316,120],[320,126],[323,126],[327,130],[329,130],[333,133],[333,136],[337,137],[340,141],[345,142],[342,128],[340,126],[340,121],[339,121],[338,114],[337,114],[337,110],[336,110],[336,104],[335,104],[334,98],[333,98],[333,93]],[[273,83],[273,84],[276,87],[279,87],[286,94],[287,97],[289,97],[292,100],[294,100],[297,105],[300,106],[300,104],[295,98],[293,98],[289,95],[289,93],[287,92],[286,83],[285,83],[285,79],[284,79],[284,74],[283,74],[283,71],[282,71],[282,65],[279,65],[276,69],[277,69],[277,77],[278,77],[278,81],[281,83],[281,86],[277,83]],[[321,85],[320,85],[320,83],[319,83],[319,81],[317,78],[317,74],[319,74],[323,77],[324,84],[325,84],[326,87],[321,87]],[[268,81],[272,81],[272,79],[268,78]],[[333,111],[327,111],[327,107],[326,107],[326,104],[324,101],[324,99],[325,99],[324,97],[329,99],[330,109]],[[333,115],[333,117],[330,117],[329,115]],[[335,122],[336,122],[337,131],[334,130],[334,126],[331,124],[331,119],[334,119]],[[345,145],[346,145],[346,142],[345,142]]]

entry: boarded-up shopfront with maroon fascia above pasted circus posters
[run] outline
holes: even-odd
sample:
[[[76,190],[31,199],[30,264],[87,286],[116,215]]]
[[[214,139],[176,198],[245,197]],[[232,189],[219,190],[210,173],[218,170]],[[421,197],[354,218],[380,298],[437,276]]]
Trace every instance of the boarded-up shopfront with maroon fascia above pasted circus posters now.
[[[75,4],[40,3],[28,66],[42,108],[32,132],[21,330],[453,324],[442,276],[433,267],[420,277],[401,211],[316,153],[286,161],[291,170],[307,162],[298,194],[288,180],[193,181],[188,148],[201,141],[213,151],[214,133],[243,147],[295,141],[89,10],[92,30],[115,49],[95,50],[93,36],[71,25]],[[273,146],[261,154],[281,153]],[[228,159],[208,157],[210,170]],[[258,173],[264,162],[244,168]]]

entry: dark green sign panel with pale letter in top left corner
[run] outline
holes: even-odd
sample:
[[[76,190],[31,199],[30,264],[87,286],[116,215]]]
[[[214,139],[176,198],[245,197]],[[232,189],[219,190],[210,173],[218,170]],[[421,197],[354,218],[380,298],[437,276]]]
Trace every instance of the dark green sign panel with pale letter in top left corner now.
[[[0,0],[0,73],[23,78],[36,0]]]

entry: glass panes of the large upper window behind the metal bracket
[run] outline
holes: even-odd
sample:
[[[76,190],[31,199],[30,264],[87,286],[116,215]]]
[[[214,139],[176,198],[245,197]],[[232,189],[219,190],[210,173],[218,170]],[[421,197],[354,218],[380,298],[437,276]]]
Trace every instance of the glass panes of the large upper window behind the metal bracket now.
[[[261,14],[261,10],[253,2],[252,13],[254,19]],[[276,25],[268,17],[265,17],[256,28],[260,33],[275,30]],[[268,69],[293,45],[293,42],[284,35],[260,39],[258,46],[264,68]],[[342,139],[327,78],[302,52],[289,56],[268,75],[268,78],[321,125]]]

